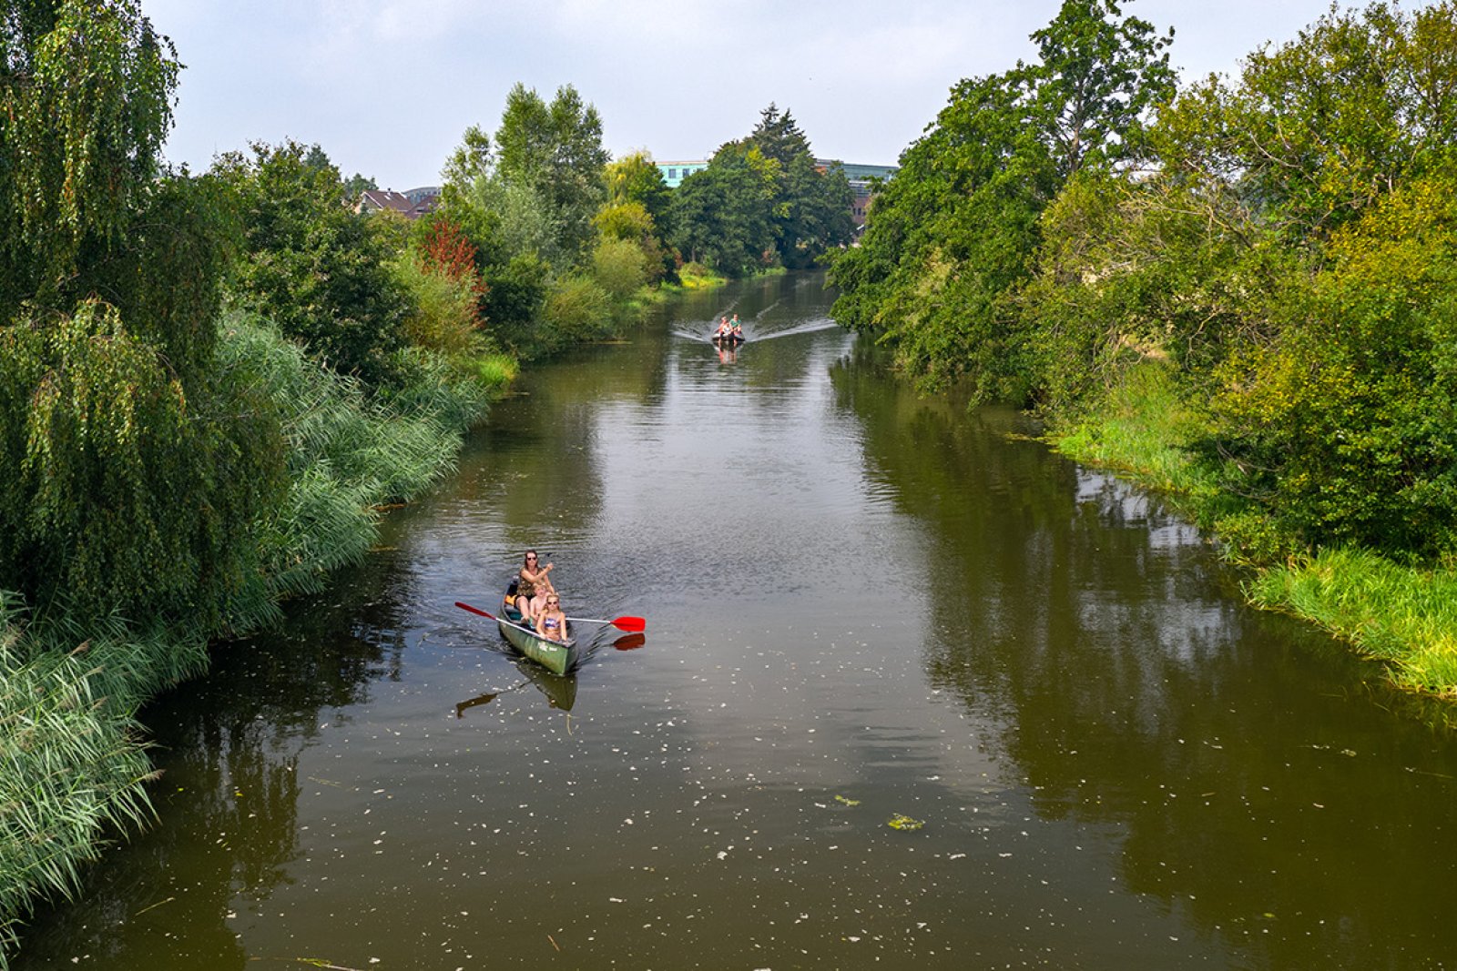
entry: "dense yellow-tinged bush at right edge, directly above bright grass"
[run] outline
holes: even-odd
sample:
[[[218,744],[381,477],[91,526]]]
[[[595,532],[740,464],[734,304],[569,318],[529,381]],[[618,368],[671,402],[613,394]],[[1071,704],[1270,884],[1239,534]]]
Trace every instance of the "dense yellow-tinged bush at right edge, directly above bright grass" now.
[[[1278,338],[1218,374],[1205,448],[1307,544],[1457,555],[1454,199],[1419,179],[1339,230]]]

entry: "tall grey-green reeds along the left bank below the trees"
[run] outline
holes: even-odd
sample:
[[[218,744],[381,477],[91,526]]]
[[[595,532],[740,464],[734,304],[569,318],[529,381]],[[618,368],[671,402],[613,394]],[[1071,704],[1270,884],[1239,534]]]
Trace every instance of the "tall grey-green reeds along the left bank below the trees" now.
[[[407,379],[367,395],[264,320],[232,314],[221,329],[220,365],[265,389],[288,469],[284,502],[254,524],[259,571],[236,591],[227,629],[38,625],[0,591],[0,971],[34,901],[70,895],[108,834],[150,817],[137,709],[205,671],[210,638],[267,623],[281,597],[364,556],[380,507],[447,475],[465,431],[516,376],[511,358],[412,349],[399,362]]]

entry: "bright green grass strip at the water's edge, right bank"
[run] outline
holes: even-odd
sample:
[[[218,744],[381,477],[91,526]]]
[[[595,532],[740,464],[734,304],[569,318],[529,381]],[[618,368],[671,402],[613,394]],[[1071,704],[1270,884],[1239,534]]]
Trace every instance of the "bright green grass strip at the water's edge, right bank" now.
[[[1403,566],[1361,549],[1320,549],[1272,559],[1288,549],[1238,498],[1222,492],[1217,470],[1187,448],[1201,431],[1169,373],[1145,364],[1126,374],[1096,416],[1053,431],[1056,448],[1106,467],[1169,498],[1249,569],[1250,601],[1310,620],[1380,662],[1402,689],[1457,699],[1457,574]]]

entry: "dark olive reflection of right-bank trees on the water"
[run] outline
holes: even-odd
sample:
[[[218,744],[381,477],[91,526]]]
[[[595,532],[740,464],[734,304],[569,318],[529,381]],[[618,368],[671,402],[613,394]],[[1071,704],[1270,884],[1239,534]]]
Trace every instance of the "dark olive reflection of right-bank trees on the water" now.
[[[967,431],[1032,431],[1018,416],[890,390],[865,352],[835,381],[871,475],[931,524],[927,677],[997,726],[1040,818],[1113,827],[1129,891],[1263,965],[1457,958],[1454,857],[1409,839],[1454,823],[1445,735],[1393,721],[1400,699],[1320,635],[1244,609],[1157,499]]]

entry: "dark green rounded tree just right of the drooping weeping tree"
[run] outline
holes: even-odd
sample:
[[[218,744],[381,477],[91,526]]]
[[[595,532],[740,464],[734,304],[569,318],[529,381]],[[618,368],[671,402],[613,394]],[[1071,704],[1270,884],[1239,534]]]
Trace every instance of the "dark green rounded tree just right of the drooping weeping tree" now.
[[[310,165],[297,143],[229,153],[214,172],[245,213],[245,255],[233,277],[240,306],[271,317],[315,358],[377,384],[392,376],[409,312],[386,268],[392,256],[369,215],[339,204],[334,166]]]

